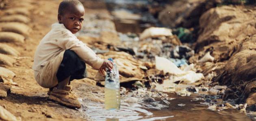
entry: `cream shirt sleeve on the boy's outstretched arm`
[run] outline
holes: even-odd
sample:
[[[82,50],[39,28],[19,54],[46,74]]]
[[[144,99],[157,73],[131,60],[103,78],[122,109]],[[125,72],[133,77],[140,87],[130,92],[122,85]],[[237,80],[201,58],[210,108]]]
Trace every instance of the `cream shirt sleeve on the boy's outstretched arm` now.
[[[64,33],[64,38],[61,40],[60,47],[65,50],[73,50],[78,56],[94,69],[100,69],[103,59],[96,55],[91,48],[78,40],[74,34]]]

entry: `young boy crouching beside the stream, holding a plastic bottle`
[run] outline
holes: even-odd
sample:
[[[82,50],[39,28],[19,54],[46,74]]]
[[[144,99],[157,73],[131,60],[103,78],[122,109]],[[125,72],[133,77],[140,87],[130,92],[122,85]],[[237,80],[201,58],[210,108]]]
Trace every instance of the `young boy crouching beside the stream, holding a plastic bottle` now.
[[[97,56],[74,35],[82,28],[85,9],[78,0],[64,0],[59,5],[59,23],[54,23],[37,46],[33,70],[35,80],[43,88],[50,88],[48,95],[66,106],[80,108],[78,96],[69,86],[73,79],[85,78],[85,63],[104,73],[113,63]]]

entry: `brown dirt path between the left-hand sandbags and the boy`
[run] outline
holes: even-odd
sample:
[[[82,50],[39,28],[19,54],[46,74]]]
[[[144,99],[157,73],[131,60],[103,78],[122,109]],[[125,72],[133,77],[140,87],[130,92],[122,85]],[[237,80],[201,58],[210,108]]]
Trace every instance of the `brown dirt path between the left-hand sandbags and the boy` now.
[[[30,9],[31,22],[27,25],[32,28],[32,31],[27,36],[26,42],[24,44],[7,43],[21,53],[13,67],[6,67],[15,73],[16,76],[13,81],[19,83],[20,86],[13,86],[11,94],[0,99],[1,106],[6,107],[8,111],[23,121],[89,120],[84,113],[87,109],[86,104],[82,104],[82,108],[76,110],[52,102],[46,94],[48,89],[40,87],[33,75],[32,65],[36,47],[41,38],[50,31],[52,23],[57,22],[57,10],[60,2],[61,0],[39,0],[36,2],[34,0],[10,0],[4,8],[15,8],[11,5],[26,3],[28,6],[25,7]],[[90,10],[86,11],[90,12]],[[95,11],[93,12],[95,13]],[[80,99],[86,97],[86,99],[91,100],[94,97],[94,100],[102,100],[100,97],[103,93],[102,88],[88,86],[83,81],[72,82],[72,85],[76,87],[75,91],[78,92]],[[93,91],[97,93],[92,93]]]

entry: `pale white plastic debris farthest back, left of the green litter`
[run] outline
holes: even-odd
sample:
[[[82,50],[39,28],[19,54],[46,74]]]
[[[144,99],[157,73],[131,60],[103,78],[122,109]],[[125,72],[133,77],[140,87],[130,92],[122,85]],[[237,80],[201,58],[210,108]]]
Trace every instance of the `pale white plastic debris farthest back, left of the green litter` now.
[[[162,37],[162,36],[171,36],[171,29],[167,28],[161,28],[161,27],[150,27],[148,29],[145,29],[141,35],[139,36],[140,40],[146,39],[146,38],[156,38],[156,37]]]

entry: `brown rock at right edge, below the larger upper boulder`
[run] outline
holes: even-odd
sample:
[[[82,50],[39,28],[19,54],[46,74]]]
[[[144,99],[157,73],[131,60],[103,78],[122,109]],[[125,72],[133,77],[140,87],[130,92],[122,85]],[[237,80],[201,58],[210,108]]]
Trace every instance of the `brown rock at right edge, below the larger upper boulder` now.
[[[241,101],[256,92],[256,35],[243,40],[236,47],[233,56],[228,60],[224,70],[214,79],[228,85],[229,92],[236,93]],[[255,96],[255,95],[254,95]],[[255,100],[255,98],[254,98]]]

